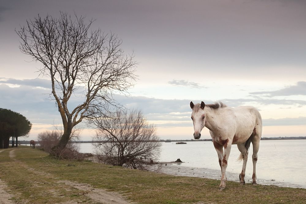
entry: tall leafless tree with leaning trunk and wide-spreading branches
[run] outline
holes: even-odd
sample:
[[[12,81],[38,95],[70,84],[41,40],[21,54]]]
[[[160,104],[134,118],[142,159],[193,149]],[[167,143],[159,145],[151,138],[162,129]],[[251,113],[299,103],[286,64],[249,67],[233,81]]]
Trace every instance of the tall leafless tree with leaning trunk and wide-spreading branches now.
[[[124,55],[122,41],[114,34],[91,30],[93,20],[61,12],[59,19],[40,15],[28,20],[17,35],[20,50],[42,63],[40,75],[51,79],[51,98],[59,109],[63,134],[53,149],[63,149],[72,128],[84,118],[95,117],[117,105],[113,93],[127,93],[136,79],[134,54]],[[72,96],[84,99],[71,107]],[[69,106],[70,105],[70,106]]]

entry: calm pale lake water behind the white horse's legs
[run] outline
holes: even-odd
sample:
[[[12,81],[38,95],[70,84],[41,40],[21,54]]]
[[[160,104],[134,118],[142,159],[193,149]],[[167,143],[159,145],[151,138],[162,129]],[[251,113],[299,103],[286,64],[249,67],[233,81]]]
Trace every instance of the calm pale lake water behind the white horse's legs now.
[[[259,184],[285,187],[306,188],[304,171],[306,164],[306,140],[264,140],[260,142],[257,161],[257,179]],[[80,152],[94,153],[90,143],[80,144]],[[246,168],[246,182],[251,181],[252,145]],[[232,145],[228,167],[228,180],[239,181],[242,162],[236,161],[240,152],[237,145]],[[220,166],[217,153],[212,142],[187,142],[176,145],[175,142],[163,142],[159,161],[176,161],[180,158],[184,163],[163,167],[162,172],[175,175],[197,176],[220,179]]]

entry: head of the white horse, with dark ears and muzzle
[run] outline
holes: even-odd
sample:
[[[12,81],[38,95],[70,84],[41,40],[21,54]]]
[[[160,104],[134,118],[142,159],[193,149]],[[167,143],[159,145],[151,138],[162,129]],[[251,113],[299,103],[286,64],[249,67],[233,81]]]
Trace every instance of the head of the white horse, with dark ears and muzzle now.
[[[190,108],[192,109],[191,119],[193,121],[193,127],[195,132],[193,137],[195,139],[200,139],[201,131],[205,126],[205,111],[204,111],[205,104],[202,101],[201,104],[193,104],[192,101],[190,102]]]

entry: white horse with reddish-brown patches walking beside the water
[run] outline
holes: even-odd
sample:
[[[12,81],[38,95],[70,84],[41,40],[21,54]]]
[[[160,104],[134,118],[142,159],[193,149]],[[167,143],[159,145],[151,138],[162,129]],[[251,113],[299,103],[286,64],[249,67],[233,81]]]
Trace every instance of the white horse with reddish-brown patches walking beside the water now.
[[[259,111],[252,106],[230,108],[221,102],[205,105],[203,101],[201,104],[193,104],[191,101],[190,107],[192,109],[191,119],[195,129],[194,138],[199,139],[201,137],[203,127],[210,130],[222,173],[219,188],[224,189],[226,187],[225,170],[232,144],[236,144],[241,152],[239,159],[243,159],[243,165],[240,184],[245,183],[244,176],[250,142],[253,144],[252,183],[256,184],[257,152],[262,134],[262,119]]]

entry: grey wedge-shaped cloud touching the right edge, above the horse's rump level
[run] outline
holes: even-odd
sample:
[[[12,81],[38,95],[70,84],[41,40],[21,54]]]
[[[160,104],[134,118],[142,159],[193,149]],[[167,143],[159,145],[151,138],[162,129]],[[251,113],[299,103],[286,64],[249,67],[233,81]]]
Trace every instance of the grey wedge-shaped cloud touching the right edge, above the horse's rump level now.
[[[299,81],[297,85],[288,86],[284,89],[277,91],[261,91],[251,92],[250,94],[259,94],[266,96],[293,96],[293,95],[306,95],[306,81]]]

